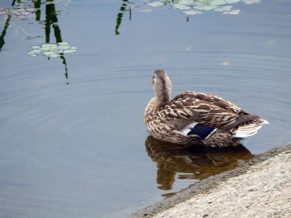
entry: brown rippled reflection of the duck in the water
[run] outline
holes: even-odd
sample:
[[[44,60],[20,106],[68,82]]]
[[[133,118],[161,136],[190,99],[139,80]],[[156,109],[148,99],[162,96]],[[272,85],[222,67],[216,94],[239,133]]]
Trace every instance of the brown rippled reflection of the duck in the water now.
[[[189,173],[178,175],[179,179],[202,180],[234,169],[254,157],[242,145],[231,148],[179,145],[152,136],[146,139],[146,151],[157,163],[157,183],[162,190],[172,189],[177,172]]]

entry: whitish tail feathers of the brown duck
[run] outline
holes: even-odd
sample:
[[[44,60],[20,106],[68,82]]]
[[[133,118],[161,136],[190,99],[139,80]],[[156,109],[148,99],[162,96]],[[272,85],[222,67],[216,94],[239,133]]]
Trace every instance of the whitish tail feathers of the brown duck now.
[[[263,124],[269,124],[268,121],[263,119],[256,119],[243,123],[237,127],[235,130],[234,137],[236,138],[245,138],[255,135],[258,130],[262,127]]]

